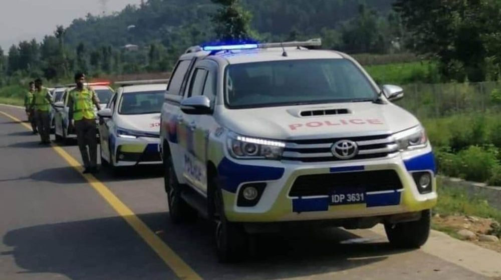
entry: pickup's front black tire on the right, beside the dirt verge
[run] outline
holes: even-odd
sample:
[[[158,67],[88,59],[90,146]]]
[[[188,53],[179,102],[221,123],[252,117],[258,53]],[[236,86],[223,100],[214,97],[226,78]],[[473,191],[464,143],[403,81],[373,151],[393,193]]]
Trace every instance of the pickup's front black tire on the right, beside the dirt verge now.
[[[431,211],[423,210],[421,218],[415,221],[385,224],[386,236],[395,248],[419,248],[430,234]]]

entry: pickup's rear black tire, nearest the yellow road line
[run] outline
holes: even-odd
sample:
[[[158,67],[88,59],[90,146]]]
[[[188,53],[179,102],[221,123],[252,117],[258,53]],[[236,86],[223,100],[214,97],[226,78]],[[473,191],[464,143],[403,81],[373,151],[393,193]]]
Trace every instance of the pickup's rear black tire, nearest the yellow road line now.
[[[193,222],[196,220],[198,212],[181,197],[182,188],[188,186],[180,184],[177,180],[172,157],[168,155],[164,158],[164,184],[165,191],[167,192],[167,205],[169,206],[170,220],[175,224]]]

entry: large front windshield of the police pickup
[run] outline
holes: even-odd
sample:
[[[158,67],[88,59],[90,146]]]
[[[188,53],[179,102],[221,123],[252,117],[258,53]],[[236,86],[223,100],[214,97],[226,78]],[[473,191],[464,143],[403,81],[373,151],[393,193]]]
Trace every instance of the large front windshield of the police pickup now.
[[[377,92],[348,59],[304,59],[226,67],[230,108],[372,100]]]

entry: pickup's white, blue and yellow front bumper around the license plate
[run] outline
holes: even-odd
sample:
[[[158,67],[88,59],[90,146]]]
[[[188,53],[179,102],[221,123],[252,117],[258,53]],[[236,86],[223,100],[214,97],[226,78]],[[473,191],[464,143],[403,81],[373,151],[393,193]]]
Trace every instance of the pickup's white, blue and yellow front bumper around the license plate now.
[[[225,157],[218,166],[225,214],[228,220],[242,222],[275,222],[372,217],[418,212],[436,204],[435,164],[431,148],[397,153],[391,157],[335,163],[234,160]],[[400,186],[385,191],[367,191],[363,203],[331,205],[330,195],[291,196],[298,177],[303,175],[393,170]],[[427,171],[432,187],[421,194],[412,176]],[[266,182],[255,206],[238,206],[238,193],[246,183]],[[314,186],[312,186],[314,187]]]

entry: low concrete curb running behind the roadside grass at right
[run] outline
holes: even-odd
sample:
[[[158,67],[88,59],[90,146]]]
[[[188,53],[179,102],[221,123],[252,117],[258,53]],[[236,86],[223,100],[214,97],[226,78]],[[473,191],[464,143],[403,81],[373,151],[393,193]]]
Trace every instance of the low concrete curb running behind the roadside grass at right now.
[[[442,182],[441,187],[444,187],[445,183],[449,187],[461,188],[470,196],[479,195],[485,198],[489,202],[489,205],[501,210],[501,186],[492,186],[486,183],[466,181],[461,178],[441,175],[437,176],[437,180]]]

